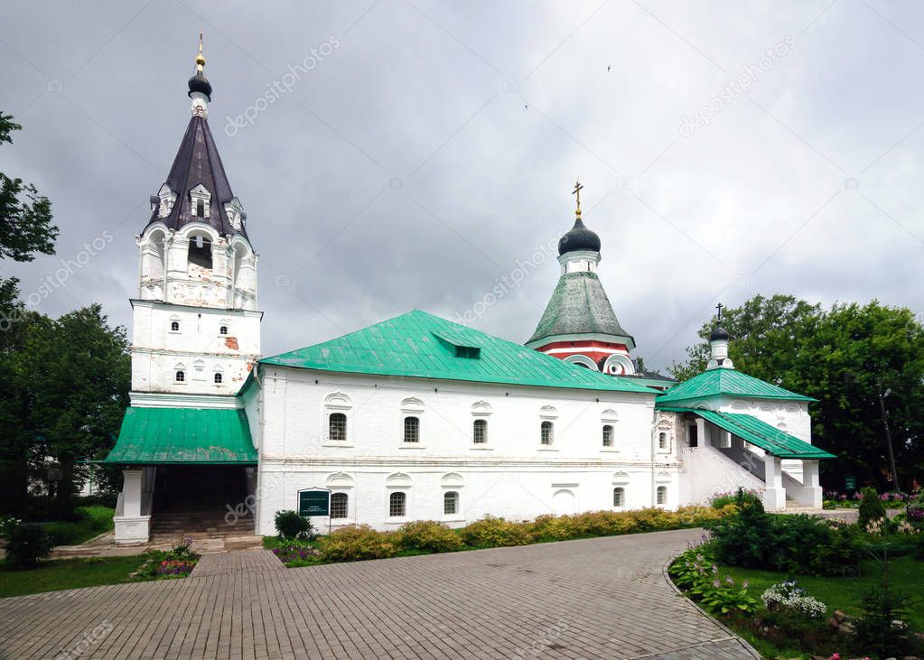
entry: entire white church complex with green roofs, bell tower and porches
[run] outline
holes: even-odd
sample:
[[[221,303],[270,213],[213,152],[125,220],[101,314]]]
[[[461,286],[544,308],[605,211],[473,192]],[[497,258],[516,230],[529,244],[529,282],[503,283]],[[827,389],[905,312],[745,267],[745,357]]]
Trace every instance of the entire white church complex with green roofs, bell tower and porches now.
[[[768,510],[821,507],[831,454],[811,445],[811,399],[737,371],[720,326],[699,376],[637,373],[580,186],[526,344],[413,310],[262,357],[258,258],[204,65],[200,48],[192,117],[137,239],[131,405],[104,461],[125,475],[117,542],[183,525],[274,534],[312,488],[330,492],[322,529],[675,509],[737,486]]]

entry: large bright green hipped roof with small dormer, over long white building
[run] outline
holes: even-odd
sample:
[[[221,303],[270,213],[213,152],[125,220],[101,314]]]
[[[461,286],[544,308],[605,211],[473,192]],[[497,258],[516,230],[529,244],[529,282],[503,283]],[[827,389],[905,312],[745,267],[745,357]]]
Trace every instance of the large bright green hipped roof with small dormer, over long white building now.
[[[478,350],[460,351],[460,347]],[[260,362],[383,376],[655,393],[628,378],[567,364],[419,309],[330,342],[266,357]]]

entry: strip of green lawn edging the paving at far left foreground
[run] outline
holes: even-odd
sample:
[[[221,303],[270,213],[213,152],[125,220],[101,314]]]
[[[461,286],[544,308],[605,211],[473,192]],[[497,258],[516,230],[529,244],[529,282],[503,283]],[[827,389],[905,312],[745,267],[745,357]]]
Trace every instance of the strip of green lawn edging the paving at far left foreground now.
[[[0,597],[135,582],[128,575],[142,563],[143,556],[132,555],[54,559],[28,570],[12,570],[0,564]]]

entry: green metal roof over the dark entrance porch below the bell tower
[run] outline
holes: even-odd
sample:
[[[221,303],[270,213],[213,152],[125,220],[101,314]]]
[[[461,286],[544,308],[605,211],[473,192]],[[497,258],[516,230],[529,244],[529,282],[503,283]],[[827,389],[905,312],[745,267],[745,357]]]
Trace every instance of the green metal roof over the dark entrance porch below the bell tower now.
[[[254,464],[257,450],[243,410],[130,407],[116,447],[103,462]]]

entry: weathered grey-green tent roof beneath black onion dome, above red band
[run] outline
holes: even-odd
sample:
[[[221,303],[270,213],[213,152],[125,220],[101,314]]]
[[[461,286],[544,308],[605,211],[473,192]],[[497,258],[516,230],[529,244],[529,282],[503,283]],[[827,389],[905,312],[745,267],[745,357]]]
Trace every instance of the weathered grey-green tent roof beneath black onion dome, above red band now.
[[[635,348],[635,340],[619,325],[610,299],[595,272],[569,272],[558,284],[527,344],[560,335],[607,334]]]

